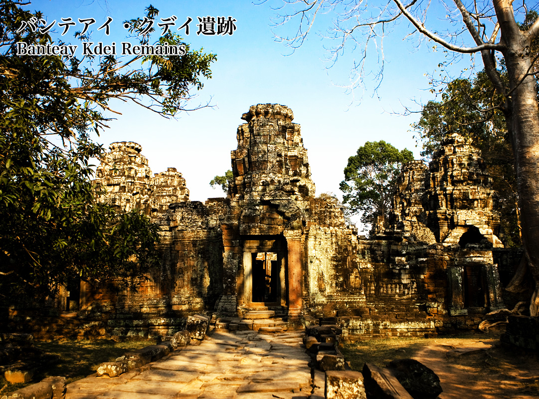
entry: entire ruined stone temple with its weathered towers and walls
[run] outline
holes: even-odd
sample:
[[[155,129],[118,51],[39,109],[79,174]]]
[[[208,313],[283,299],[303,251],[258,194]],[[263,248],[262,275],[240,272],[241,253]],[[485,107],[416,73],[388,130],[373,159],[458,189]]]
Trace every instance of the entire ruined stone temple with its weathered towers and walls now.
[[[509,306],[501,281],[520,253],[497,238],[491,179],[462,137],[429,166],[406,164],[391,227],[365,239],[336,203],[315,197],[291,109],[259,104],[241,119],[228,195],[204,204],[189,201],[176,169],[151,176],[141,146],[111,145],[97,171],[101,199],[151,215],[163,262],[138,292],[85,286],[79,314],[108,319],[112,334],[168,335],[188,314],[265,306],[292,325],[337,317],[350,334],[377,336],[471,328]]]

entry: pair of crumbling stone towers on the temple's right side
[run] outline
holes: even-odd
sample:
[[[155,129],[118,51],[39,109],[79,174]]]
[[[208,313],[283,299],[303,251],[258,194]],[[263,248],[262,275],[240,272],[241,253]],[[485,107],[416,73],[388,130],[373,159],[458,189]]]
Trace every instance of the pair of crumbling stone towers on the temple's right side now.
[[[428,168],[421,161],[407,163],[397,186],[393,220],[398,230],[427,244],[464,247],[467,239],[486,238],[494,247],[503,246],[497,238],[500,216],[492,178],[479,149],[464,137],[447,137]]]

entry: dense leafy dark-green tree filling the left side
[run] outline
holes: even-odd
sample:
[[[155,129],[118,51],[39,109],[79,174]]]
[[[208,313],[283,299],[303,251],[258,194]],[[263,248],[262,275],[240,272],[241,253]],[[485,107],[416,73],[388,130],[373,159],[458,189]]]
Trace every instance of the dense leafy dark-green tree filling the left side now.
[[[0,5],[0,299],[47,295],[73,278],[136,284],[133,278],[157,262],[157,226],[96,201],[88,162],[103,149],[89,133],[106,127],[113,98],[164,115],[185,109],[215,60],[188,45],[183,56],[129,60],[18,55],[18,42],[55,44],[48,34],[19,30],[42,18],[20,3]],[[169,33],[159,42],[180,40]]]

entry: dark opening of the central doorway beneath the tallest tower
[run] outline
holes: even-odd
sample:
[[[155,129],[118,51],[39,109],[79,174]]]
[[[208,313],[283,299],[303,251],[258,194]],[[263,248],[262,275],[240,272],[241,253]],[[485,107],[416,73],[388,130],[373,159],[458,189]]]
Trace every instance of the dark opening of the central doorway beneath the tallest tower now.
[[[253,302],[277,302],[279,266],[277,253],[254,252]]]

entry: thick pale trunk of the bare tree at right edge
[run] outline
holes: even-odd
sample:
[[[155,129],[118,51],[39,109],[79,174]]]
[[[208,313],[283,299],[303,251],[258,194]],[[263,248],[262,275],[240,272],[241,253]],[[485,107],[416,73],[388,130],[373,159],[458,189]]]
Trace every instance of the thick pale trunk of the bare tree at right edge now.
[[[515,23],[512,2],[495,0],[502,51],[509,76],[505,116],[512,138],[522,222],[522,244],[535,280],[530,314],[539,305],[539,108],[533,76],[531,37]]]

